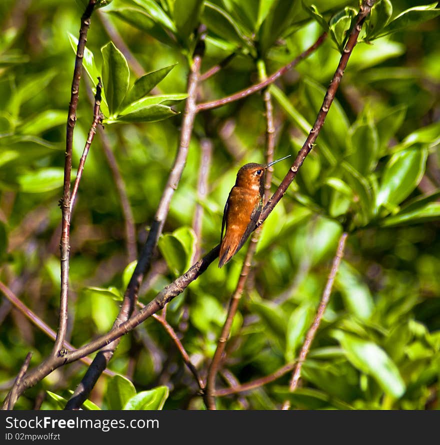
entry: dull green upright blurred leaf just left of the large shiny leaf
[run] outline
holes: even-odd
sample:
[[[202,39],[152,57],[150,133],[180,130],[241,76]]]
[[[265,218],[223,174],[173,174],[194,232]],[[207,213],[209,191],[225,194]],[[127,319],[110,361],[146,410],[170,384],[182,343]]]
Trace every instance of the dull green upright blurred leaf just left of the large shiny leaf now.
[[[358,123],[348,133],[348,156],[346,158],[360,174],[366,175],[377,164],[379,142],[372,122]]]

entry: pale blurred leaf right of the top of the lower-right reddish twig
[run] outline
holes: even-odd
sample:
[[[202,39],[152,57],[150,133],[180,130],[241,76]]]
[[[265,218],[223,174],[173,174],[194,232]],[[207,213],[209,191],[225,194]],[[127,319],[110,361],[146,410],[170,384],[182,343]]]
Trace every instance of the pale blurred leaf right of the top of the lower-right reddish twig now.
[[[369,288],[357,270],[344,260],[339,265],[336,283],[350,312],[360,319],[368,319],[374,307]]]

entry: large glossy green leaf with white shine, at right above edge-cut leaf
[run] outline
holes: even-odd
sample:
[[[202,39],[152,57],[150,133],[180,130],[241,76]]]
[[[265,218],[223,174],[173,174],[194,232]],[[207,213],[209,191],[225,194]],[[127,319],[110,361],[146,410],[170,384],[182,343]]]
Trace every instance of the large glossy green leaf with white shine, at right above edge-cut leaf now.
[[[376,208],[394,208],[416,187],[423,176],[427,149],[412,147],[394,153],[386,163],[376,197]]]

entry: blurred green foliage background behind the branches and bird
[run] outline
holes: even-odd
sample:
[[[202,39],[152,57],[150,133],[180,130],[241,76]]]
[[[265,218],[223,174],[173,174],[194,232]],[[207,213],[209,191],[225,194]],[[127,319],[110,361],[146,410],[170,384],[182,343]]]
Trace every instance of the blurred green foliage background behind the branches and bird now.
[[[323,45],[269,88],[278,140],[275,157],[294,156],[311,128],[358,5],[343,0],[316,1],[313,7],[310,1],[253,3],[113,0],[93,13],[87,48],[96,72],[106,74],[104,94],[111,102],[109,114],[104,112],[105,133],[126,184],[138,246],[145,240],[178,145],[182,114],[172,110],[184,108],[199,20],[207,27],[202,71],[231,52],[237,54],[201,84],[199,101],[256,82],[258,60],[271,73],[326,28],[329,37]],[[375,6],[366,34],[361,33],[366,42],[360,42],[349,59],[316,147],[264,224],[250,283],[234,319],[223,368],[238,381],[267,375],[292,361],[315,313],[337,239],[347,230],[346,254],[303,364],[302,385],[288,393],[286,374],[244,394],[219,397],[219,408],[273,409],[286,398],[301,409],[439,407],[440,21],[435,3],[399,18],[416,4],[423,2],[381,0]],[[0,12],[0,278],[55,329],[60,284],[57,201],[74,64],[70,39],[78,38],[83,4],[3,0]],[[127,75],[110,79],[110,86],[108,73],[115,72],[110,69],[114,66],[125,72],[125,62],[116,43],[107,45],[111,38],[101,16],[123,36],[145,72],[175,64],[154,90],[160,99],[151,102],[161,105],[164,114],[142,108],[135,118],[123,118],[126,103],[118,106],[128,88]],[[132,85],[137,76],[132,70],[129,75]],[[86,92],[90,86],[84,73],[74,167],[92,121]],[[140,97],[145,91],[146,86]],[[171,96],[165,99],[164,94]],[[136,106],[139,110],[139,103]],[[158,116],[170,117],[155,121]],[[159,241],[154,279],[147,277],[141,287],[142,302],[190,265],[200,139],[208,137],[213,143],[208,195],[201,202],[200,241],[207,251],[218,243],[224,202],[237,169],[245,162],[264,161],[264,134],[260,93],[197,115],[187,163]],[[286,170],[285,161],[275,165],[274,185]],[[71,227],[69,338],[75,346],[111,328],[132,270],[131,265],[124,272],[129,262],[124,236],[118,194],[96,136]],[[214,262],[168,305],[167,319],[202,375],[244,253],[245,248],[222,269]],[[27,351],[33,353],[34,366],[50,352],[52,341],[5,299],[0,319],[3,397]],[[122,338],[109,368],[132,383],[102,376],[88,408],[204,408],[192,375],[152,318]],[[28,389],[16,408],[62,407],[84,371],[80,362],[57,369]],[[222,385],[227,383],[220,377],[217,387]]]

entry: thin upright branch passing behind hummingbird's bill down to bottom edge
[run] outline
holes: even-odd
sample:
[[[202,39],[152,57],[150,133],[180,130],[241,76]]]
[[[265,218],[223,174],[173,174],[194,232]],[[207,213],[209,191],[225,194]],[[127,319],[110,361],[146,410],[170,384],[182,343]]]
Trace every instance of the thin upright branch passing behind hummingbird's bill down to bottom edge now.
[[[262,60],[258,61],[260,77],[265,77],[264,62]],[[266,114],[266,145],[265,145],[265,161],[269,163],[273,160],[273,150],[275,147],[275,125],[273,123],[273,106],[269,91],[264,91],[264,105]],[[272,182],[272,171],[273,167],[269,167],[266,170],[264,178],[264,200],[269,197],[270,184]],[[224,348],[226,347],[226,341],[229,337],[230,328],[232,326],[233,317],[235,316],[238,302],[243,293],[244,285],[246,284],[247,277],[249,275],[249,270],[252,263],[253,255],[256,251],[256,245],[261,234],[262,226],[259,226],[253,233],[250,243],[247,248],[246,256],[244,259],[243,266],[241,268],[240,277],[238,279],[237,286],[229,302],[229,307],[227,311],[226,321],[224,322],[223,328],[221,330],[220,337],[218,339],[217,347],[212,357],[211,364],[209,365],[208,374],[206,377],[206,390],[204,393],[204,400],[206,407],[208,409],[215,409],[215,377],[218,371],[218,367],[223,358]]]

